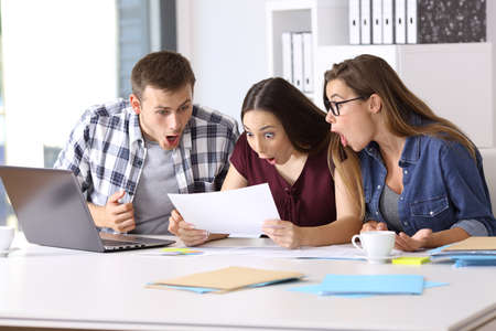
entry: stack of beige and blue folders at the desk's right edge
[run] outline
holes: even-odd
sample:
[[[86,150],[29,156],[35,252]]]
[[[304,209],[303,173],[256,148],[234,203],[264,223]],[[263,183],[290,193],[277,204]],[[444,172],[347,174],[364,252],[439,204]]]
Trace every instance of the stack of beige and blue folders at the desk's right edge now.
[[[496,266],[496,237],[470,237],[430,254],[432,260],[454,260],[455,267]]]

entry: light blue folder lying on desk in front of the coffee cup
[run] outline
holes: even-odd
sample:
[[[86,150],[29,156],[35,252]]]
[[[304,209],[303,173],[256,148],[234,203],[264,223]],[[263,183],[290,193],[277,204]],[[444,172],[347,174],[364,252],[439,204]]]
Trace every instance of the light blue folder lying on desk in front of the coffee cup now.
[[[421,295],[420,275],[327,275],[322,295]]]

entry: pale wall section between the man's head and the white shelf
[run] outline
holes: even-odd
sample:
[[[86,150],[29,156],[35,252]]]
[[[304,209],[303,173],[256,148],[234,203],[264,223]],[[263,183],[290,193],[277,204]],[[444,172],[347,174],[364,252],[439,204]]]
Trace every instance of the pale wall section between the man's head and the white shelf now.
[[[267,78],[266,0],[177,1],[179,52],[196,75],[195,102],[239,122],[248,88]]]

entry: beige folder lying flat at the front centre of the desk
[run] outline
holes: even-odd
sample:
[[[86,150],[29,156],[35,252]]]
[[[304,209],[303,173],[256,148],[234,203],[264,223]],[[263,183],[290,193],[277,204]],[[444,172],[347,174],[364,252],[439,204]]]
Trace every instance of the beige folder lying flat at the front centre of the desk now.
[[[155,281],[155,286],[184,286],[214,288],[230,291],[256,284],[277,282],[299,279],[303,277],[301,273],[265,270],[247,267],[228,267],[213,271],[193,274],[179,278]],[[149,287],[154,287],[149,285]]]

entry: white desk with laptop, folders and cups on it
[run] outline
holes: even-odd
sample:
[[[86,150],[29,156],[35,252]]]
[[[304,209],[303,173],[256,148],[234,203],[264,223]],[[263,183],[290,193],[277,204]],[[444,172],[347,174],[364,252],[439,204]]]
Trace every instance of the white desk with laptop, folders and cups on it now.
[[[18,243],[19,245],[19,243]],[[213,245],[272,245],[229,238]],[[96,254],[24,245],[0,258],[0,325],[153,330],[472,330],[496,317],[496,268],[369,265],[257,256]],[[226,266],[296,270],[308,281],[197,295],[149,281]],[[362,299],[289,291],[326,274],[419,274],[450,286]],[[489,322],[490,323],[490,322]],[[495,328],[494,321],[484,330]],[[494,330],[494,329],[493,329]]]

